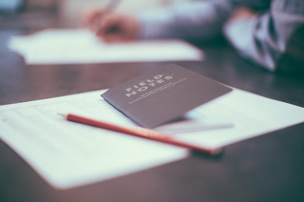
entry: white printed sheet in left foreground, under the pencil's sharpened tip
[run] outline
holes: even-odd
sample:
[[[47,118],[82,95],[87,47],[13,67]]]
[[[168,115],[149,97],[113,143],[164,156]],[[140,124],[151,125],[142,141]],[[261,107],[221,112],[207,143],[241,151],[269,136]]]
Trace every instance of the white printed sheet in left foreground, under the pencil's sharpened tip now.
[[[94,91],[0,106],[0,138],[53,187],[70,188],[188,156],[184,148],[65,120],[58,112],[133,125]]]

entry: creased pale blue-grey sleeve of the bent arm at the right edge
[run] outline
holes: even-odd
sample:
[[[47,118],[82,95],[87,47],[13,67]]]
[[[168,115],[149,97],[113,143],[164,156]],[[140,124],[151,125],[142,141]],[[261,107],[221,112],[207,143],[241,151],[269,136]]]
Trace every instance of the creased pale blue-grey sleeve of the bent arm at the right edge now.
[[[261,15],[232,16],[223,31],[240,55],[275,71],[284,54],[294,55],[289,46],[297,44],[291,39],[300,36],[295,33],[303,24],[304,1],[273,0],[270,9]],[[299,51],[297,55],[302,51],[303,56],[303,48]]]

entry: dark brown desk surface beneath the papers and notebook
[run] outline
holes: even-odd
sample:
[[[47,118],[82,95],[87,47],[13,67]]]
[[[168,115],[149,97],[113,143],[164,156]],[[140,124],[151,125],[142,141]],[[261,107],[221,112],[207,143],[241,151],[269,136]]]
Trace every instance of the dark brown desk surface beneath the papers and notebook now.
[[[23,27],[0,29],[0,104],[111,88],[172,62],[25,65],[5,48]],[[202,45],[203,62],[174,62],[223,84],[304,107],[303,75],[269,73],[227,45]],[[192,154],[156,168],[69,190],[55,190],[0,141],[0,201],[303,201],[304,124]]]

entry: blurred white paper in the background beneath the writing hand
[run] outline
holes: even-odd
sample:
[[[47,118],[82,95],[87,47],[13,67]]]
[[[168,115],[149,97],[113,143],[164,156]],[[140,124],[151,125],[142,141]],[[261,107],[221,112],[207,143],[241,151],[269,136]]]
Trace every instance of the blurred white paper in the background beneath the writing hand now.
[[[202,50],[181,40],[105,44],[86,29],[47,29],[14,36],[8,48],[27,64],[87,64],[136,61],[202,61]]]

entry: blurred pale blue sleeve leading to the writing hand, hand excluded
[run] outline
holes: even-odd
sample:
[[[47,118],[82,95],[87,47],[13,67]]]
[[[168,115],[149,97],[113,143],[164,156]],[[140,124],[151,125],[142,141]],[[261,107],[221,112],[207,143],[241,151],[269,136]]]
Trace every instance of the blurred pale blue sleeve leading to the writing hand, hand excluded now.
[[[227,0],[189,1],[157,8],[136,16],[140,38],[183,38],[208,40],[221,34],[233,10]]]

